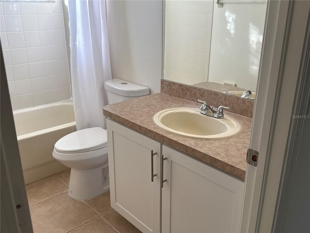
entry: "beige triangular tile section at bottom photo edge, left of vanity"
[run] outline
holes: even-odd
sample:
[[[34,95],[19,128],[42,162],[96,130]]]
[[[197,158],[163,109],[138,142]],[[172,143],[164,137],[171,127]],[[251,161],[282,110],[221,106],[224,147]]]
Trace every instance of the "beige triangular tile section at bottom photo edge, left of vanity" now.
[[[85,225],[73,230],[70,233],[116,233],[104,220],[100,217],[86,223]]]

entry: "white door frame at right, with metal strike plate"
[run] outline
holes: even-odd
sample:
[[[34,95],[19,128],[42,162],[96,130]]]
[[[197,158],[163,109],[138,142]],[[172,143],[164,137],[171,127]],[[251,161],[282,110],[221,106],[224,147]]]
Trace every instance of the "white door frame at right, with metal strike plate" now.
[[[258,79],[250,148],[259,151],[257,167],[248,165],[241,232],[272,232],[286,144],[300,80],[309,1],[270,0]],[[309,28],[308,28],[309,30]],[[262,217],[263,216],[263,217]]]

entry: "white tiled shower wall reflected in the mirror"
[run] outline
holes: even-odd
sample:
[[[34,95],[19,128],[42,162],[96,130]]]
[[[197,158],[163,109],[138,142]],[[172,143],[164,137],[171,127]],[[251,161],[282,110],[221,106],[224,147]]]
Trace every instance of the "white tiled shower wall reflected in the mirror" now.
[[[166,80],[208,81],[213,0],[166,0]]]

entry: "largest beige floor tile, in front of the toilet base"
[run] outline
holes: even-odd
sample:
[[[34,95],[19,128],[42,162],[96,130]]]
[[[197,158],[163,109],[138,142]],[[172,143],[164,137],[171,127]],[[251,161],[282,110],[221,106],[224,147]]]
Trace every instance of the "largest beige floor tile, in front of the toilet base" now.
[[[97,217],[83,201],[67,193],[32,205],[30,214],[34,233],[66,233]]]

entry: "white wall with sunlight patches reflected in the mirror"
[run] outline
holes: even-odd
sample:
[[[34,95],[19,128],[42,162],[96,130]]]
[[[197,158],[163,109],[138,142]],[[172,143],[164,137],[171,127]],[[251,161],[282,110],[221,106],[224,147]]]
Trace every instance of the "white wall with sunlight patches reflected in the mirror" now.
[[[209,82],[256,90],[266,15],[263,3],[214,4]]]

